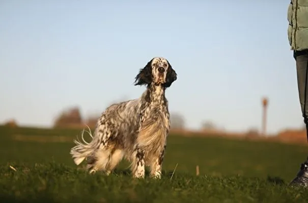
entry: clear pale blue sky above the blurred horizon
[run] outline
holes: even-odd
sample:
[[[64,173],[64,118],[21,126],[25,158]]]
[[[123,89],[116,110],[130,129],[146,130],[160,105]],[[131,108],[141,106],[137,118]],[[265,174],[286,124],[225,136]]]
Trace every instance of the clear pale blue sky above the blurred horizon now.
[[[170,111],[191,129],[302,126],[283,1],[1,1],[0,122],[51,126],[79,106],[100,114],[139,97],[139,68],[165,57],[178,73]]]

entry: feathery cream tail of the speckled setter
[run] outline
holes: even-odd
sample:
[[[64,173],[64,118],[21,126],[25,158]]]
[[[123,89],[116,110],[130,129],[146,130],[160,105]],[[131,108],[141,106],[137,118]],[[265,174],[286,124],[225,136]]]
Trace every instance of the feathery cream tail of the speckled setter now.
[[[79,141],[78,136],[77,136],[77,140],[74,140],[74,143],[76,144],[76,146],[71,148],[70,154],[75,162],[76,165],[79,165],[83,160],[85,160],[85,158],[87,158],[89,155],[91,155],[93,153],[94,150],[94,145],[95,144],[93,141],[93,135],[91,133],[91,130],[88,126],[89,131],[86,131],[90,137],[92,138],[91,142],[87,142],[85,139],[83,139],[83,133],[85,133],[85,129],[82,130],[81,133],[81,139],[83,141],[83,143],[81,141]]]

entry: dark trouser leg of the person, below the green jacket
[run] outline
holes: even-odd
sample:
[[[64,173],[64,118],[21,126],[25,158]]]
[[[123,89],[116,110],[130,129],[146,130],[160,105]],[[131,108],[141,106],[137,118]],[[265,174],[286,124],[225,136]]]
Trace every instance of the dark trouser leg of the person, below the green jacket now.
[[[294,58],[296,60],[299,102],[301,106],[302,116],[304,118],[304,123],[306,124],[306,130],[308,131],[308,50],[294,52]]]

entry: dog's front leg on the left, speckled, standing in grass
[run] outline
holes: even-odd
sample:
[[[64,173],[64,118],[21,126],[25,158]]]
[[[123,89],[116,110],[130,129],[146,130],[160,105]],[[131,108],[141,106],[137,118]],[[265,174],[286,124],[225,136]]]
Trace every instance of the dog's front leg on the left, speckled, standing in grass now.
[[[135,150],[135,157],[133,158],[133,177],[144,178],[145,177],[145,153],[143,150],[137,148]]]

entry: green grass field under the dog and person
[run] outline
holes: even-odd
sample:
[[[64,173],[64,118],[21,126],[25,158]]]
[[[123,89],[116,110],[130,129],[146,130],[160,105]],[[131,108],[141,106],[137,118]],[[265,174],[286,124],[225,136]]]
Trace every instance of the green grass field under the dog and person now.
[[[109,176],[75,166],[69,151],[77,134],[0,126],[0,202],[308,201],[307,189],[287,186],[306,146],[170,135],[163,178],[132,180],[125,161]]]

